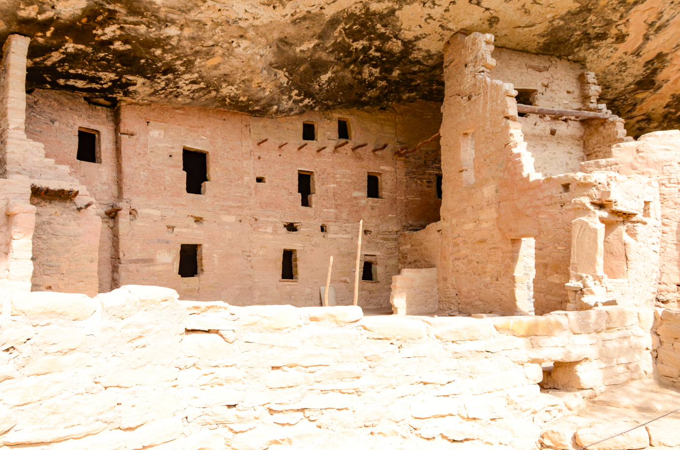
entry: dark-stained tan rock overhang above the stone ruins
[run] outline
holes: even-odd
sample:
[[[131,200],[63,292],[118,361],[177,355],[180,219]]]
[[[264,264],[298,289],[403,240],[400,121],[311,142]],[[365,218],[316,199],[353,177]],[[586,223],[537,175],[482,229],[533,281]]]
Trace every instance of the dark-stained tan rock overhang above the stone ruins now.
[[[680,2],[3,0],[33,38],[29,88],[260,116],[443,97],[460,30],[579,61],[629,133],[680,127]]]

